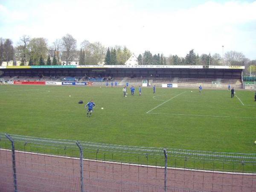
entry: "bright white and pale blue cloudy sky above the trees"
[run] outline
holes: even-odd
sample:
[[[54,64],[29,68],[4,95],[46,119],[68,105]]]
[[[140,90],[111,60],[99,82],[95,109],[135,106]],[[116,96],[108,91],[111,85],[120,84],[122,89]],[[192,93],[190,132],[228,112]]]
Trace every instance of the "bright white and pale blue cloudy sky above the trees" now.
[[[256,0],[0,0],[0,37],[21,35],[49,45],[70,33],[135,55],[168,56],[236,50],[256,59]]]

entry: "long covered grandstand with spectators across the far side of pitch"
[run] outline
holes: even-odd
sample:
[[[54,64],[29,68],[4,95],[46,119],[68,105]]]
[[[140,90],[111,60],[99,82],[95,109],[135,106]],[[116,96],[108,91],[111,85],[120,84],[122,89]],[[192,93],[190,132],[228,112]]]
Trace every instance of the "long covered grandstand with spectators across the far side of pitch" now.
[[[0,67],[2,81],[70,81],[94,82],[103,85],[103,81],[118,81],[141,85],[143,80],[151,84],[178,84],[178,87],[232,87],[243,88],[243,66],[25,66]],[[245,79],[244,79],[245,80]]]

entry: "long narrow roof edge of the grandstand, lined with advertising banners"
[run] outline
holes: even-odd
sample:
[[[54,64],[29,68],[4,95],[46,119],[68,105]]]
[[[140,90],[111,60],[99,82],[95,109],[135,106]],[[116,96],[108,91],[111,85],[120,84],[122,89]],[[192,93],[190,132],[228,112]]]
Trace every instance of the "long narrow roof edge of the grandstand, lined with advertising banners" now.
[[[33,66],[0,66],[0,69],[45,69],[45,68],[131,68],[131,69],[244,69],[244,66],[219,66],[219,65],[33,65]]]

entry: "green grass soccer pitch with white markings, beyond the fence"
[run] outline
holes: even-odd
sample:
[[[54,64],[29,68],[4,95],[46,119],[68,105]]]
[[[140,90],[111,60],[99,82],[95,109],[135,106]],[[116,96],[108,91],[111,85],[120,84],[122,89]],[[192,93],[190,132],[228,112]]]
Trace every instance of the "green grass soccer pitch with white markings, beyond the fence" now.
[[[130,88],[130,87],[129,87]],[[138,87],[0,86],[0,132],[117,145],[255,153],[254,93]],[[192,91],[192,92],[191,92]],[[86,117],[86,104],[96,108]],[[101,108],[104,108],[103,110]]]

